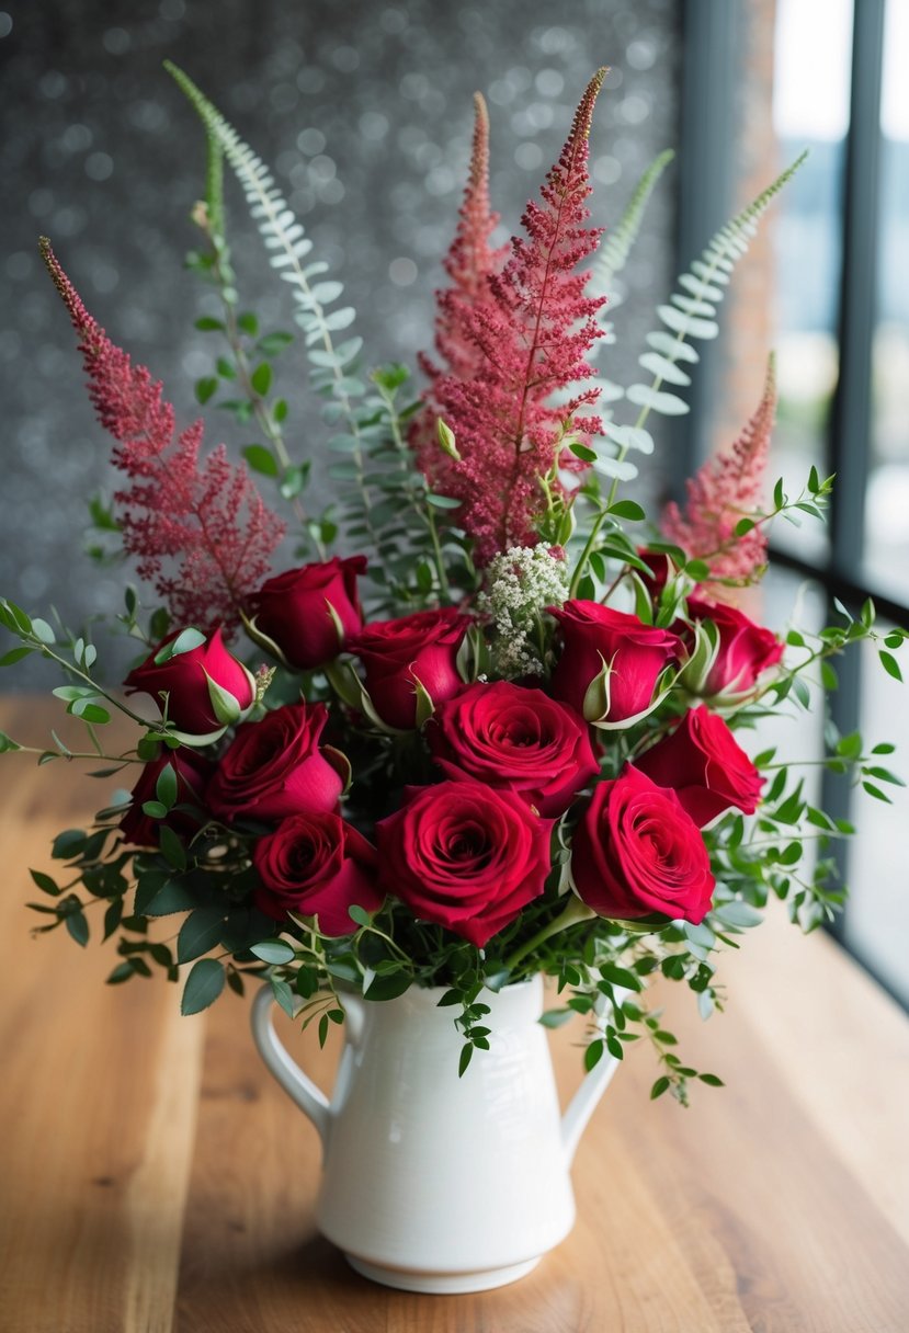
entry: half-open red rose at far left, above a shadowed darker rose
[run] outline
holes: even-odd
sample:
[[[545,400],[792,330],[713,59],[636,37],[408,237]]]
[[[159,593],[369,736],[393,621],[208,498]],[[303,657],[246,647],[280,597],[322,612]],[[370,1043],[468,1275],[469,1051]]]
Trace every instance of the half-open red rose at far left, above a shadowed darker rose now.
[[[151,694],[161,712],[165,702],[161,696],[167,694],[168,721],[177,730],[207,736],[239,720],[256,697],[256,682],[227,651],[220,629],[197,648],[173,652],[171,645],[177,644],[181,633],[185,631],[168,635],[141,666],[129,672],[124,685],[128,693]],[[236,709],[220,692],[236,701]]]

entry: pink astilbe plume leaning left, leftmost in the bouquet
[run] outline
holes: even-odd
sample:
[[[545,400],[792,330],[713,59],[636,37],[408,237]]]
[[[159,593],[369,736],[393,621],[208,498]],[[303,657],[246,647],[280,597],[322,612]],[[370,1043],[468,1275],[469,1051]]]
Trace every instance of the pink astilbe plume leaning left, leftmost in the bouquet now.
[[[95,411],[117,441],[113,464],[129,479],[115,495],[124,549],[177,624],[235,627],[269,572],[284,525],[223,444],[200,463],[201,421],[175,441],[161,384],[107,337],[45,239],[41,255],[79,333]]]

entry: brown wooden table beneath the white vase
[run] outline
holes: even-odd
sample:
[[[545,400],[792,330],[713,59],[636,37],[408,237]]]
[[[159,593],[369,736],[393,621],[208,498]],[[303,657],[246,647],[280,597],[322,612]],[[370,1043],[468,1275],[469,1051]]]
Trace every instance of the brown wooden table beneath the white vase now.
[[[0,708],[36,744],[48,718]],[[259,1064],[243,1001],[180,1018],[163,981],[104,986],[109,948],[29,938],[27,866],[105,793],[75,765],[0,765],[4,1333],[909,1329],[909,1022],[829,940],[769,921],[708,1024],[666,988],[686,1058],[728,1088],[650,1102],[636,1049],[576,1158],[577,1226],[533,1274],[392,1292],[316,1234],[316,1134]],[[554,1038],[565,1093],[572,1040]]]

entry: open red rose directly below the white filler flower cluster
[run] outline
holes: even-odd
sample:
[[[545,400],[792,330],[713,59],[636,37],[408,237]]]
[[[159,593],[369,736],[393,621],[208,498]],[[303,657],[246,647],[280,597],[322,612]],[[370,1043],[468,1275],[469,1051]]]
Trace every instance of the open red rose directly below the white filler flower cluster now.
[[[566,704],[512,681],[468,685],[427,728],[436,762],[506,788],[546,817],[564,814],[598,770],[588,728]]]

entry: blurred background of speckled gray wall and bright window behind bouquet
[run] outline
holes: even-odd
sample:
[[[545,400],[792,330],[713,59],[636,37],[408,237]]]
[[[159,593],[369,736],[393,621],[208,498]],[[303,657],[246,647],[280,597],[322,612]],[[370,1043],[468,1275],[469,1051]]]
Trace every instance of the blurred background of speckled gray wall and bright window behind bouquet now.
[[[781,388],[772,479],[801,489],[836,472],[832,521],[774,533],[760,616],[784,631],[793,607],[825,623],[832,599],[909,624],[909,51],[906,0],[546,0],[373,4],[351,0],[0,0],[0,589],[69,624],[119,609],[123,573],[83,555],[87,497],[109,499],[108,443],[83,389],[72,331],[36,251],[48,235],[87,305],[164,380],[187,424],[211,373],[193,321],[213,295],[183,268],[204,147],[161,61],[180,64],[275,169],[357,308],[372,363],[429,344],[432,293],[456,219],[472,107],[492,120],[501,239],[558,153],[593,69],[609,64],[590,141],[593,221],[621,216],[645,165],[677,157],[625,273],[620,383],[653,309],[709,236],[797,153],[806,164],[741,264],[692,392],[658,437],[641,485],[652,501],[736,437],[757,405],[768,351]],[[241,304],[287,328],[240,191],[228,235]],[[279,363],[289,443],[320,457],[320,423],[293,351]],[[248,444],[223,413],[208,440]],[[108,652],[116,669],[116,649]],[[104,656],[104,655],[103,655]],[[31,666],[31,660],[29,660]],[[909,749],[896,681],[869,659],[829,698],[841,733]],[[7,689],[43,684],[7,670]],[[788,748],[821,753],[817,725]],[[902,760],[905,766],[905,757]],[[4,780],[7,780],[4,769]],[[818,772],[818,769],[808,769]],[[884,806],[824,780],[828,808],[858,822],[844,856],[853,897],[838,933],[904,1001],[909,885],[906,801]]]

